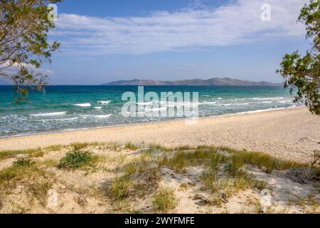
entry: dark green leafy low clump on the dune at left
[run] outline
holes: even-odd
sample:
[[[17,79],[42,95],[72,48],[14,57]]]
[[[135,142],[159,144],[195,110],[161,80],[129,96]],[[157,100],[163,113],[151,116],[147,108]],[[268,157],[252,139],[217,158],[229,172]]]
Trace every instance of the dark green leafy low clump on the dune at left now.
[[[68,152],[63,159],[60,160],[58,164],[58,169],[78,169],[90,163],[94,162],[96,157],[88,151],[75,150],[73,152]]]

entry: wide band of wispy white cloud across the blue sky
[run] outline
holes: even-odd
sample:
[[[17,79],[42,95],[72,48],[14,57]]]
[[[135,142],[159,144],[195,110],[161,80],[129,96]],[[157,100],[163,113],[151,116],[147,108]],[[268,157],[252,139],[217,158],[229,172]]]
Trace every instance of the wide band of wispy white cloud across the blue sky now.
[[[308,0],[238,0],[218,8],[158,11],[143,17],[99,18],[60,14],[51,33],[62,51],[76,55],[188,51],[230,46],[266,37],[303,36],[297,24]],[[271,21],[262,21],[260,6],[270,4]]]

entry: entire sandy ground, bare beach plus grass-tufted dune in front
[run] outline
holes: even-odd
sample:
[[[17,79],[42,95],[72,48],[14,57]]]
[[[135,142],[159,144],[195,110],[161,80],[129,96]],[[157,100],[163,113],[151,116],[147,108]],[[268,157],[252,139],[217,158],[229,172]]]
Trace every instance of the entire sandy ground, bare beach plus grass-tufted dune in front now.
[[[4,138],[0,213],[317,214],[319,135],[294,108]]]

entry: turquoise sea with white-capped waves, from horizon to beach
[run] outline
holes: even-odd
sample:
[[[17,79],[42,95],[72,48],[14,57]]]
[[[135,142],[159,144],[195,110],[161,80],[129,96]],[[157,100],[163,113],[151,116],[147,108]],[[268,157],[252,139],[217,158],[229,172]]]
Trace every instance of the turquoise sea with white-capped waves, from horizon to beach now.
[[[287,90],[276,86],[145,86],[145,93],[198,92],[199,116],[225,115],[294,105]],[[0,137],[48,133],[172,119],[124,118],[122,94],[137,86],[48,86],[31,93],[31,103],[16,105],[11,86],[0,86]]]

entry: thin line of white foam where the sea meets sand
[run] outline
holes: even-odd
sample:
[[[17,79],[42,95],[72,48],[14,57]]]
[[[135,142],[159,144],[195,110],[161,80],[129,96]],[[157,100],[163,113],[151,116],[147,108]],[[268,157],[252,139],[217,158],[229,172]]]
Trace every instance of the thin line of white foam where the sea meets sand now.
[[[240,113],[230,113],[230,114],[223,114],[223,115],[207,115],[203,117],[199,117],[198,119],[203,118],[219,118],[219,117],[227,117],[231,115],[245,115],[245,114],[251,114],[251,113],[266,113],[266,112],[272,112],[274,110],[287,110],[292,108],[303,108],[304,106],[290,106],[287,108],[268,108],[268,109],[260,109],[260,110],[250,110]],[[1,139],[6,138],[20,138],[20,137],[28,137],[31,135],[51,135],[51,134],[57,134],[57,133],[70,133],[70,132],[77,132],[77,131],[83,131],[83,130],[97,130],[97,129],[105,129],[105,128],[119,128],[119,127],[125,127],[125,126],[134,126],[134,125],[142,125],[142,124],[148,124],[148,123],[164,123],[164,122],[172,122],[172,121],[186,121],[187,118],[176,118],[171,120],[157,120],[157,121],[150,121],[150,122],[141,122],[141,123],[129,123],[129,124],[123,124],[123,125],[105,125],[100,127],[92,127],[92,128],[70,128],[70,129],[64,129],[64,130],[53,130],[48,132],[41,132],[41,133],[26,133],[26,134],[20,134],[20,135],[9,135],[9,136],[0,136]]]

